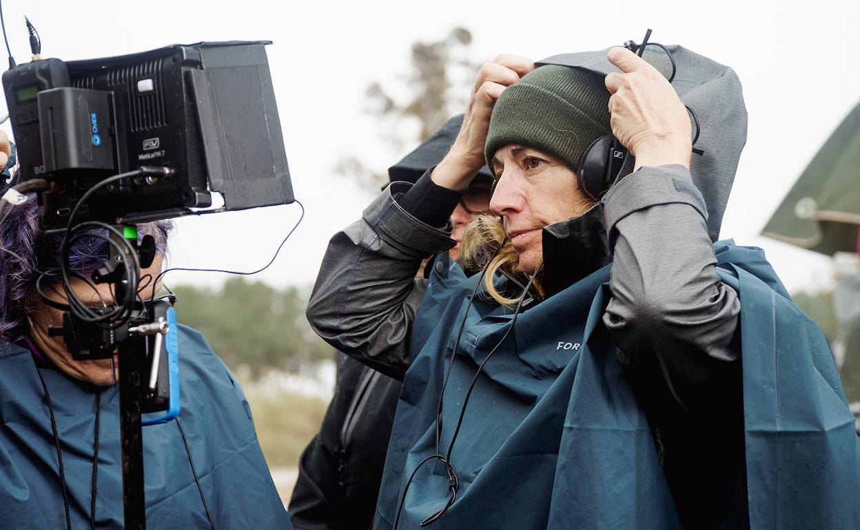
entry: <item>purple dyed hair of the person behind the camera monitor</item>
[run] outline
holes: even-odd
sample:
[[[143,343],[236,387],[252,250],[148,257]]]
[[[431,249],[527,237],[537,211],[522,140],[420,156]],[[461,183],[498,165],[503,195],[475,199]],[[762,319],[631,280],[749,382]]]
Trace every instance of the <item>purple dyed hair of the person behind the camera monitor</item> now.
[[[2,192],[5,192],[3,189]],[[0,193],[2,193],[0,192]],[[0,252],[0,338],[7,340],[23,332],[27,314],[38,300],[36,280],[41,271],[56,268],[59,263],[59,246],[63,235],[43,235],[39,229],[39,205],[35,195],[12,208],[0,212],[0,218],[9,216],[0,226],[0,245],[22,257],[23,262]],[[156,240],[157,253],[167,253],[167,238],[173,223],[169,221],[138,224],[138,237],[150,234]],[[108,244],[95,237],[85,237],[70,249],[73,271],[89,277],[95,268],[107,260]],[[50,283],[42,283],[44,286]]]

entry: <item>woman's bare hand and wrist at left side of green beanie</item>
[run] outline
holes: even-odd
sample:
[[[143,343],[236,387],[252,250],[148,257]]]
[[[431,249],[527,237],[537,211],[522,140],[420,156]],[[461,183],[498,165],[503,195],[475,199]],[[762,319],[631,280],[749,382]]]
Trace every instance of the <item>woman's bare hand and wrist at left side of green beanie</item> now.
[[[534,61],[519,55],[500,55],[492,62],[482,64],[457,139],[430,174],[436,185],[451,190],[464,190],[469,186],[477,172],[487,163],[484,144],[487,143],[489,118],[495,101],[505,88],[518,82],[520,77],[534,68]]]

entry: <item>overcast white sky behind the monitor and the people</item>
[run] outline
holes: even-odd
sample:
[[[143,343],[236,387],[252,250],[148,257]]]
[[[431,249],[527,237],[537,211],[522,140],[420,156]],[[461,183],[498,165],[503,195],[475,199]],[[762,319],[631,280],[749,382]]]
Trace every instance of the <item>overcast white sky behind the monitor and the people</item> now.
[[[43,55],[64,59],[140,52],[200,40],[273,40],[267,48],[296,197],[304,222],[267,283],[311,283],[329,237],[370,196],[333,173],[341,154],[391,159],[383,131],[362,112],[365,86],[396,82],[409,46],[451,27],[470,29],[472,58],[501,52],[540,59],[624,40],[680,44],[728,64],[744,86],[749,136],[722,237],[764,247],[789,289],[830,282],[830,260],[759,237],[759,231],[832,130],[860,102],[860,2],[243,2],[209,0],[25,0],[3,3],[15,58],[28,58],[23,17],[39,30]],[[3,103],[0,103],[3,106]],[[3,125],[9,130],[9,124]],[[404,148],[409,150],[407,146]],[[860,170],[858,170],[860,174]],[[298,205],[182,220],[173,266],[253,270],[298,219]],[[167,283],[218,285],[222,274],[175,272]]]

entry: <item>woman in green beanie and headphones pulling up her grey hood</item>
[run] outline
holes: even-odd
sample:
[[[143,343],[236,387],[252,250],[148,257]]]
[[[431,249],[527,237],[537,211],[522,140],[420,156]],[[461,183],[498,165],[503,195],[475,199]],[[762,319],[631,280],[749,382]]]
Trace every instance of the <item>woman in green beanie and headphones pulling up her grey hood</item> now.
[[[484,64],[439,165],[331,240],[312,326],[403,380],[374,528],[860,524],[826,342],[759,249],[716,242],[740,82],[667,52],[672,82],[623,48]],[[464,268],[414,280],[484,163]]]

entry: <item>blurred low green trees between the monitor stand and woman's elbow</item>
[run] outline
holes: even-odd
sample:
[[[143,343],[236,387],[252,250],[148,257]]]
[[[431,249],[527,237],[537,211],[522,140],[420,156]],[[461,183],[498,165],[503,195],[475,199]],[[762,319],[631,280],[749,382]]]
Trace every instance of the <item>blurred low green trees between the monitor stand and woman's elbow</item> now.
[[[218,290],[179,286],[174,291],[181,322],[202,332],[231,369],[246,365],[257,377],[268,369],[298,372],[331,359],[331,347],[304,318],[305,289],[275,289],[234,277]]]

